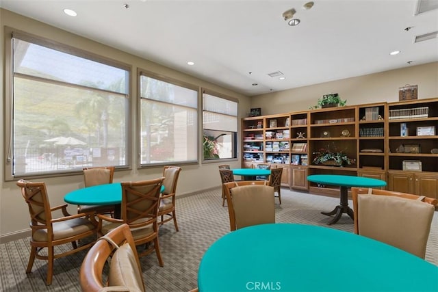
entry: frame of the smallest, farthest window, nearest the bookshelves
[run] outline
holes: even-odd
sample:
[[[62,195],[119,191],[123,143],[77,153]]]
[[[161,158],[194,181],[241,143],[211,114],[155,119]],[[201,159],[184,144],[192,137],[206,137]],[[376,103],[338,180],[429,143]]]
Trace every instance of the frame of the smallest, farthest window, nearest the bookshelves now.
[[[235,157],[231,157],[231,158],[219,158],[219,159],[204,159],[204,153],[201,152],[201,161],[202,163],[223,163],[223,162],[227,162],[227,161],[238,161],[239,160],[239,145],[240,145],[240,139],[239,139],[239,99],[238,98],[233,98],[231,96],[227,96],[225,94],[220,94],[218,92],[215,92],[214,90],[209,90],[207,88],[201,88],[201,114],[200,114],[200,118],[201,118],[201,133],[202,136],[204,135],[204,94],[209,94],[211,96],[215,96],[217,98],[223,98],[227,101],[232,101],[234,103],[237,104],[237,111],[236,111],[236,129],[237,131],[235,132],[235,144],[233,145],[233,152]],[[203,148],[203,139],[200,139],[200,149]]]

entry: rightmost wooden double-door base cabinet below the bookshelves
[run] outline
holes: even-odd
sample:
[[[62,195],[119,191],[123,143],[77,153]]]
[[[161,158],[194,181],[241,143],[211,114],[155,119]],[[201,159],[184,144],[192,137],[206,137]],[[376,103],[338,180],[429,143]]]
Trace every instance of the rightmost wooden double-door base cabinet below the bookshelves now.
[[[388,189],[438,199],[438,174],[390,170]]]

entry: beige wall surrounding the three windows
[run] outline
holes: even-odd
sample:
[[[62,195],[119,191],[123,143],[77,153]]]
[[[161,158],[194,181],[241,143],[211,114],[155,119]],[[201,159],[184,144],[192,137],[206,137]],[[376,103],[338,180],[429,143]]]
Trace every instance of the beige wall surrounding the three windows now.
[[[70,34],[66,31],[62,31],[61,29],[57,29],[56,27],[51,27],[44,23],[40,23],[38,21],[34,21],[30,18],[26,18],[24,16],[14,14],[8,10],[0,9],[0,92],[4,98],[4,47],[5,47],[5,36],[4,36],[4,26],[12,27],[14,29],[18,29],[21,31],[25,31],[30,34],[35,34],[37,36],[42,36],[44,38],[49,38],[55,40],[57,42],[62,42],[64,44],[68,44],[73,47],[77,47],[79,49],[83,49],[90,52],[98,52],[99,55],[103,55],[104,57],[108,57],[110,59],[116,59],[120,62],[124,62],[126,64],[131,64],[132,66],[132,84],[131,84],[131,96],[133,96],[134,101],[137,96],[137,80],[136,80],[136,72],[137,68],[142,68],[145,70],[150,70],[156,72],[160,75],[165,75],[167,77],[172,77],[175,79],[179,79],[184,82],[192,83],[194,85],[202,86],[203,88],[207,88],[209,90],[213,90],[214,92],[227,94],[228,96],[232,96],[235,98],[239,98],[239,111],[240,117],[244,117],[247,109],[250,107],[250,100],[247,96],[243,96],[241,94],[237,94],[232,92],[231,90],[227,90],[226,88],[221,88],[217,85],[208,83],[206,81],[202,81],[200,79],[196,79],[189,75],[185,75],[181,72],[177,72],[170,68],[166,68],[164,66],[160,66],[153,62],[149,62],[148,60],[141,59],[140,57],[136,57],[134,55],[129,55],[123,51],[118,51],[116,49],[112,49],[103,44],[99,44],[92,40],[88,40],[86,38],[81,38],[74,34]],[[2,113],[2,119],[0,122],[0,131],[1,131],[1,139],[4,138],[4,118],[3,118],[3,102],[0,103],[0,111]],[[132,116],[132,124],[134,125],[133,133],[136,133],[136,102],[132,103],[133,106],[133,116]],[[202,115],[201,115],[202,116]],[[201,126],[202,127],[202,126]],[[201,129],[201,128],[200,128]],[[0,144],[1,155],[0,155],[0,164],[5,165],[5,155],[3,153],[8,149],[5,148],[7,142],[3,141]],[[132,151],[136,153],[136,142],[133,142]],[[202,151],[200,151],[202,155]],[[133,155],[135,156],[135,155]],[[240,156],[240,155],[239,155]],[[221,162],[223,163],[223,162]],[[218,173],[218,164],[220,163],[205,163],[204,165],[195,164],[195,165],[181,165],[182,171],[179,176],[179,183],[177,187],[177,194],[189,194],[195,191],[201,191],[203,189],[209,189],[211,187],[220,186],[220,176]],[[240,166],[240,159],[238,161],[231,161],[233,167]],[[134,161],[132,165],[136,165]],[[114,174],[114,181],[136,181],[140,179],[149,179],[149,178],[157,178],[158,176],[162,176],[162,167],[159,168],[147,168],[142,170],[137,170],[135,166],[133,166],[133,170],[125,170],[118,171]],[[49,192],[49,198],[51,201],[51,205],[55,206],[58,204],[64,204],[63,198],[64,194],[73,189],[77,189],[79,187],[83,187],[83,177],[81,175],[75,176],[62,176],[62,177],[54,177],[54,178],[44,178],[43,180],[47,184],[47,190]],[[29,212],[27,211],[27,205],[25,204],[21,194],[19,192],[18,187],[15,182],[5,182],[3,169],[0,171],[0,241],[7,241],[10,239],[14,239],[14,237],[20,237],[23,234],[23,230],[29,229]],[[218,200],[220,202],[220,200]],[[75,213],[75,207],[70,206],[69,211],[71,213]]]

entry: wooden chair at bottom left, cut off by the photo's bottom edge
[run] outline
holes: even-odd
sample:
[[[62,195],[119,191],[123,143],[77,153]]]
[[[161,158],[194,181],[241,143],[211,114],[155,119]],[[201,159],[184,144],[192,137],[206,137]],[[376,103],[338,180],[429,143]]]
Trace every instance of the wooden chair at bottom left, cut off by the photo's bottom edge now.
[[[106,275],[105,263],[110,263]],[[79,282],[87,292],[145,291],[136,243],[127,224],[100,237],[90,248],[82,261]]]

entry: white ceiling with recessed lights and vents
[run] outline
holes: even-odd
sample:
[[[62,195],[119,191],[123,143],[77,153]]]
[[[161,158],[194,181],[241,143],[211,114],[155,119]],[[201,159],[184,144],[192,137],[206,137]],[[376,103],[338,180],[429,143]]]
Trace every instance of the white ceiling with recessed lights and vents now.
[[[304,10],[306,2],[0,0],[0,7],[248,96],[438,61],[438,38],[414,42],[438,31],[438,9],[417,14],[417,0],[315,0]],[[438,0],[424,3],[438,8]],[[301,21],[295,27],[282,17],[291,8]],[[285,79],[268,75],[276,71]]]

